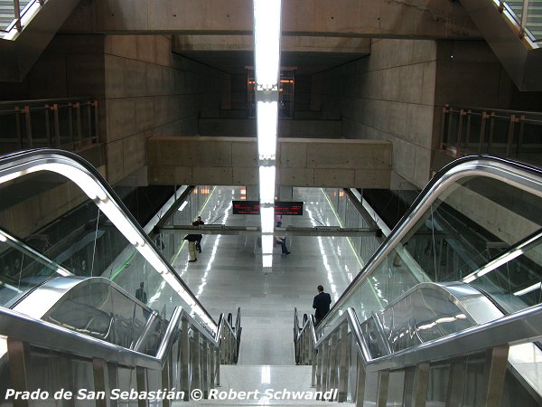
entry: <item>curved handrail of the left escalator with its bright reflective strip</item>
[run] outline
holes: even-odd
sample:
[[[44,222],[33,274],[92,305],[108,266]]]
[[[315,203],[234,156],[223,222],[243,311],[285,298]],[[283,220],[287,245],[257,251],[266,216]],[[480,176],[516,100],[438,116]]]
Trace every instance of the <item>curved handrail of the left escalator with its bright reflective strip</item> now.
[[[79,185],[79,187],[83,191],[86,191],[85,188],[90,188],[91,191],[93,191],[94,187],[99,188],[99,194],[102,194],[103,196],[101,198],[100,196],[96,197],[96,200],[100,202],[108,201],[112,203],[113,207],[116,208],[116,210],[124,216],[123,222],[127,222],[129,227],[131,228],[130,232],[135,232],[137,242],[141,242],[139,244],[135,244],[135,249],[139,251],[145,257],[145,259],[145,253],[147,255],[149,253],[146,248],[151,251],[153,259],[156,259],[160,263],[160,269],[157,269],[156,265],[154,265],[152,261],[149,261],[151,264],[153,264],[154,269],[162,274],[164,280],[166,280],[166,282],[172,285],[173,290],[178,292],[181,297],[181,293],[185,293],[184,295],[188,296],[191,299],[190,301],[185,301],[192,308],[195,308],[196,310],[201,309],[201,317],[203,317],[204,320],[208,319],[210,321],[210,328],[214,331],[217,325],[213,318],[210,316],[209,312],[207,312],[207,310],[203,308],[198,298],[193,295],[192,290],[189,289],[186,284],[184,284],[179,274],[164,258],[162,252],[155,248],[152,239],[149,238],[149,236],[145,233],[139,223],[135,221],[134,216],[126,209],[126,206],[117,197],[117,194],[115,193],[113,188],[107,184],[107,181],[98,172],[98,170],[94,166],[90,165],[89,162],[86,161],[84,158],[69,151],[53,148],[37,148],[22,152],[15,152],[6,156],[0,156],[0,184],[27,174],[29,170],[31,170],[35,166],[47,166],[53,164],[70,166],[71,168],[79,171],[79,175],[88,176],[90,180],[95,183],[95,185],[79,185],[74,178],[70,178],[69,175],[62,174],[75,184]],[[46,170],[45,168],[43,169]],[[105,201],[102,198],[105,198]],[[120,229],[119,231],[123,232]],[[128,236],[126,236],[126,239],[130,241]],[[173,287],[173,285],[176,285],[177,287]]]

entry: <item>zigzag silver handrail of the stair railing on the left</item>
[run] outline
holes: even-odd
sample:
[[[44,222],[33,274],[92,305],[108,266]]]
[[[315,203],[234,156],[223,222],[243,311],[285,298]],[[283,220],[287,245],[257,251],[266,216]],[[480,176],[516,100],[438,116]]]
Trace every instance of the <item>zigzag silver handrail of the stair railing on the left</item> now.
[[[123,346],[114,345],[93,336],[86,336],[70,329],[59,327],[41,319],[27,317],[8,308],[0,308],[0,332],[8,339],[21,340],[25,343],[55,351],[79,355],[89,358],[101,358],[108,362],[116,362],[127,366],[142,366],[150,369],[162,369],[167,361],[167,355],[178,335],[182,319],[186,319],[192,329],[201,335],[214,347],[219,343],[209,331],[196,321],[181,307],[173,310],[173,316],[165,330],[164,336],[156,355],[145,355]]]

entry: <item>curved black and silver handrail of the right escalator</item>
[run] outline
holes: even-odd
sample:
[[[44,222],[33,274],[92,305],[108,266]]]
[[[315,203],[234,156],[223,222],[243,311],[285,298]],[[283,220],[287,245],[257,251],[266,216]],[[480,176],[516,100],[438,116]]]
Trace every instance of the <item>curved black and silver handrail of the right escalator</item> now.
[[[350,293],[358,289],[360,285],[369,278],[380,262],[397,246],[397,244],[410,232],[411,228],[424,215],[425,210],[435,202],[446,188],[458,180],[472,176],[481,175],[500,180],[509,185],[514,185],[523,191],[537,194],[542,197],[542,170],[534,166],[519,164],[504,158],[492,156],[465,156],[453,163],[444,166],[425,186],[410,206],[405,215],[397,223],[396,227],[389,234],[378,250],[371,256],[365,267],[350,282],[350,285],[343,291],[341,297],[335,302],[332,309],[323,318],[319,327],[324,327],[327,321],[341,309]],[[320,329],[320,328],[319,328]]]

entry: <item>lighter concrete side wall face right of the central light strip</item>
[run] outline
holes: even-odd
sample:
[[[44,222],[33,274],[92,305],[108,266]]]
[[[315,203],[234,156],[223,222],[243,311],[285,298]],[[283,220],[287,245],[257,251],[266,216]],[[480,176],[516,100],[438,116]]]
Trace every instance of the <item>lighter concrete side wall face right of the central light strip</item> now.
[[[435,69],[433,41],[373,40],[369,57],[314,80],[321,88],[322,116],[342,118],[342,137],[392,142],[395,179],[425,185],[433,145]]]

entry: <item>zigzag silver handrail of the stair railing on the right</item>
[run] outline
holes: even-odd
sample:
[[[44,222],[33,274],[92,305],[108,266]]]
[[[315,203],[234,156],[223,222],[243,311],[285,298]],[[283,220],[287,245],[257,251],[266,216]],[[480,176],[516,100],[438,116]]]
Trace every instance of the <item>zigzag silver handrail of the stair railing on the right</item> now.
[[[382,369],[399,369],[426,361],[449,359],[455,355],[467,355],[500,345],[517,345],[532,342],[542,336],[542,304],[523,309],[506,317],[469,327],[463,331],[444,336],[424,344],[401,350],[391,355],[373,358],[360,328],[360,321],[352,308],[325,330],[314,349],[320,347],[348,321],[362,363],[369,372]]]

